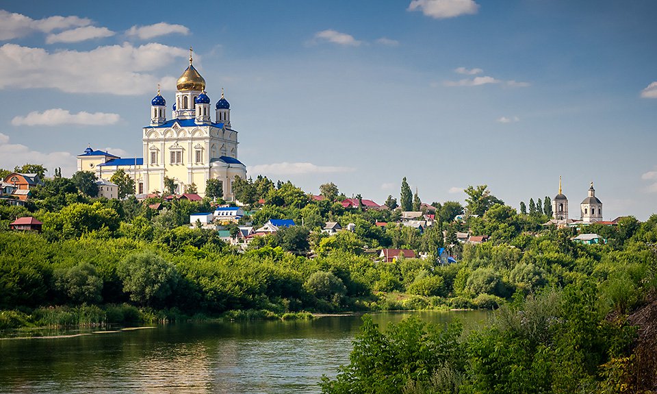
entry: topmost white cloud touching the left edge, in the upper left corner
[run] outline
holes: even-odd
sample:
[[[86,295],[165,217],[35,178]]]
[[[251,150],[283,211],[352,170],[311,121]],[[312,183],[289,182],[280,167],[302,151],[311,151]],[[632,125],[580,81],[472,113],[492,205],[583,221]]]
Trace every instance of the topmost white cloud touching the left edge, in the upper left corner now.
[[[50,16],[44,19],[31,19],[23,14],[0,10],[0,40],[12,40],[34,32],[50,33],[53,30],[86,26],[90,23],[90,19],[78,16]]]

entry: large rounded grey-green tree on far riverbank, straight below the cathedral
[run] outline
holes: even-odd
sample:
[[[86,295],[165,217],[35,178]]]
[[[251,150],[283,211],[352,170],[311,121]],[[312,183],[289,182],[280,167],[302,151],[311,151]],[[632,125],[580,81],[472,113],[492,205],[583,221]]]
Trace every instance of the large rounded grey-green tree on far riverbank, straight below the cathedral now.
[[[152,251],[131,254],[119,264],[117,273],[123,291],[143,306],[162,303],[174,291],[179,278],[176,267]]]

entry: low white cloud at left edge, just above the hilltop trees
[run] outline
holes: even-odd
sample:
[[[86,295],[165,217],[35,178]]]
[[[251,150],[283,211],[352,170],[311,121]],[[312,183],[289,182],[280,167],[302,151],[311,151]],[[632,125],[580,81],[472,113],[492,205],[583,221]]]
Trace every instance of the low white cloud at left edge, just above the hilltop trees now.
[[[75,156],[68,152],[34,151],[25,145],[11,144],[9,136],[0,133],[0,168],[13,169],[25,163],[42,164],[50,173],[62,167],[64,176],[73,175],[77,167]]]

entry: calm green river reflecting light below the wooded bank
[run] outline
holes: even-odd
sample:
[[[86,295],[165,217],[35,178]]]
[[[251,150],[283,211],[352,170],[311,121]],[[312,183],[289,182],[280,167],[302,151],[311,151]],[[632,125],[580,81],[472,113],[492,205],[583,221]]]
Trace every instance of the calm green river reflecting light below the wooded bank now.
[[[483,312],[381,312],[476,325]],[[0,393],[319,393],[349,362],[361,317],[181,323],[73,337],[0,339]],[[70,333],[68,333],[70,334]],[[78,333],[79,334],[79,333]]]

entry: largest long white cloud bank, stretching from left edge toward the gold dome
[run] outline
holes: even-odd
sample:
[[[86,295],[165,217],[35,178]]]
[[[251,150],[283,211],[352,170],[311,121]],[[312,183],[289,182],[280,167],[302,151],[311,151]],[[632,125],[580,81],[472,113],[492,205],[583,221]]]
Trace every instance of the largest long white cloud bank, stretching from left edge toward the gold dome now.
[[[91,51],[56,51],[5,44],[0,47],[0,89],[55,88],[66,93],[141,95],[174,88],[173,77],[156,77],[153,71],[187,58],[188,50],[149,43],[97,47]],[[181,69],[186,64],[181,63]],[[16,73],[21,70],[21,73]],[[168,84],[171,84],[169,86]]]

